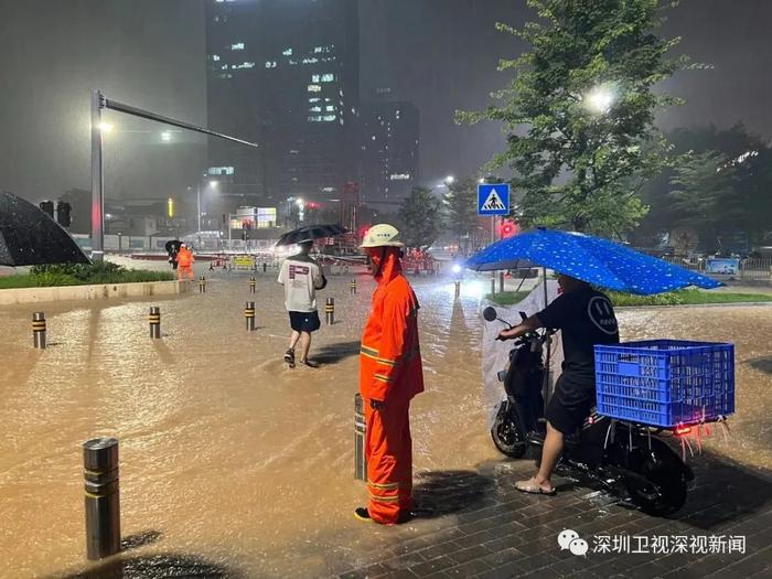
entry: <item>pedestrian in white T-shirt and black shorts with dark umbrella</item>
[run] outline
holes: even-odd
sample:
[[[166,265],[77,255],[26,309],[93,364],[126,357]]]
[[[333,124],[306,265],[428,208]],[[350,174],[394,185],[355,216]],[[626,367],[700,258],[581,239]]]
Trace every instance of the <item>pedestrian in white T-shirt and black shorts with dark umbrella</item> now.
[[[328,280],[321,266],[310,254],[314,239],[341,233],[345,233],[345,229],[337,225],[312,225],[288,232],[276,243],[277,246],[298,245],[300,248],[298,254],[288,257],[281,265],[277,280],[285,287],[285,305],[292,331],[289,349],[285,352],[285,362],[291,368],[294,367],[294,349],[299,342],[300,363],[310,368],[319,367],[308,355],[311,350],[311,334],[321,326],[317,311],[317,291],[324,289]]]

